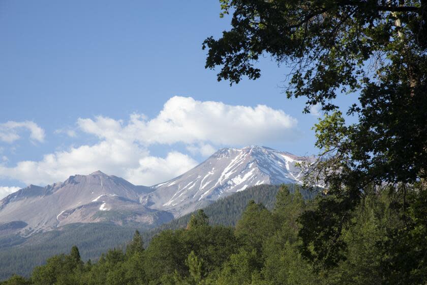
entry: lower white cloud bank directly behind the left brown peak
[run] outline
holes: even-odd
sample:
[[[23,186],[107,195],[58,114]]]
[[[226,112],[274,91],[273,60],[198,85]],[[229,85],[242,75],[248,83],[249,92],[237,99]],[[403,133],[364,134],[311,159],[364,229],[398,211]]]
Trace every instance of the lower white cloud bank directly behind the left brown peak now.
[[[162,166],[161,162],[168,165]],[[20,161],[13,167],[0,165],[0,177],[45,185],[64,181],[70,175],[89,174],[100,169],[134,184],[151,185],[182,174],[196,164],[189,156],[175,152],[166,159],[150,156],[134,141],[117,137],[101,140],[93,146],[83,145],[47,154],[40,161]]]

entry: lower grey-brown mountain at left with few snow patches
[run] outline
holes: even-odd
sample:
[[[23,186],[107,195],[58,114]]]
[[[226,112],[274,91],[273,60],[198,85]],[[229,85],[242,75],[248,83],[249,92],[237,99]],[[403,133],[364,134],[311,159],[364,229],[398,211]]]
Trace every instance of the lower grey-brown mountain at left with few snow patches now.
[[[140,196],[152,190],[100,171],[46,187],[30,185],[0,201],[0,234],[6,229],[9,234],[15,230],[29,235],[75,222],[108,220],[155,226],[171,220],[168,212],[139,203]]]

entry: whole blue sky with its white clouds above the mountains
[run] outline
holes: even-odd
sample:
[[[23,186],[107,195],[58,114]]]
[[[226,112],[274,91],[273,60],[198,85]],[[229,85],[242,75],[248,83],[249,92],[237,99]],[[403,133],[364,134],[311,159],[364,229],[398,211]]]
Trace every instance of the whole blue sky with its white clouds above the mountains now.
[[[265,58],[232,87],[204,68],[203,40],[229,27],[219,13],[217,0],[1,1],[0,188],[98,168],[149,185],[247,144],[316,153],[318,117],[282,93],[286,68]]]

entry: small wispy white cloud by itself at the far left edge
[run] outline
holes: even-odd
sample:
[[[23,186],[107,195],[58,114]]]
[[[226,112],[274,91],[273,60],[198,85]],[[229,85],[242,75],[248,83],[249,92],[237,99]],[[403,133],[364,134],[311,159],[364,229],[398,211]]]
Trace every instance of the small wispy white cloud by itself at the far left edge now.
[[[0,140],[5,143],[13,143],[20,138],[19,132],[26,129],[30,132],[29,137],[34,141],[42,143],[45,138],[44,130],[32,121],[14,122],[9,121],[0,124]]]

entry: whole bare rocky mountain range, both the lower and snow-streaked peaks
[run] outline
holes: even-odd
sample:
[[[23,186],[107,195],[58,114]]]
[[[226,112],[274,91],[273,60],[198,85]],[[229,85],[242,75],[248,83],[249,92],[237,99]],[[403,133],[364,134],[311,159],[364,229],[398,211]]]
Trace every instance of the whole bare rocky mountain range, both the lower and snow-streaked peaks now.
[[[30,185],[0,201],[0,236],[103,221],[154,227],[250,186],[300,183],[296,163],[304,159],[266,147],[227,148],[151,187],[100,171],[46,187]]]

